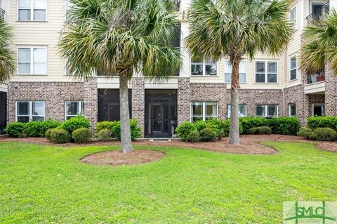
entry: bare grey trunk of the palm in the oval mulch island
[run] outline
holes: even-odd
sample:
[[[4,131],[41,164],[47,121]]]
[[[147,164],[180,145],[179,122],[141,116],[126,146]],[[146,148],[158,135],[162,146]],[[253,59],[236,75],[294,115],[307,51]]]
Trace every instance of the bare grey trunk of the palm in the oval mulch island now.
[[[119,102],[121,114],[121,152],[132,151],[130,112],[128,111],[128,73],[119,74]]]

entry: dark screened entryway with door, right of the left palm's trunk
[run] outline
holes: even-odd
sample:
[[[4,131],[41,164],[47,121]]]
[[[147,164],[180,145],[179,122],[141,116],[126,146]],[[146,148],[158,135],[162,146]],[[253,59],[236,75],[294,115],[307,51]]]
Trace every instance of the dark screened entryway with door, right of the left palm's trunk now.
[[[175,95],[147,96],[145,98],[145,137],[171,138],[177,123]]]

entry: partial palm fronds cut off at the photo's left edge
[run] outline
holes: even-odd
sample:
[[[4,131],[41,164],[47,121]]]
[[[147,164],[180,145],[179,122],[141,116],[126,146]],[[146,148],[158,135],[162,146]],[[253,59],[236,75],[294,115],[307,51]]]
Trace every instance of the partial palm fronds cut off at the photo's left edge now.
[[[15,53],[11,49],[12,28],[0,20],[0,82],[8,81],[16,69]]]

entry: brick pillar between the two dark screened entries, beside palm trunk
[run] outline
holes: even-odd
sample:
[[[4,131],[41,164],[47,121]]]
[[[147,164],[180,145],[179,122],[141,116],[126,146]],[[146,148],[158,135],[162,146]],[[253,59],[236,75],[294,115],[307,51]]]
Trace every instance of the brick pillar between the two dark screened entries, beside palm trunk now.
[[[138,121],[142,129],[142,137],[145,129],[145,81],[143,78],[134,77],[132,83],[132,117]]]

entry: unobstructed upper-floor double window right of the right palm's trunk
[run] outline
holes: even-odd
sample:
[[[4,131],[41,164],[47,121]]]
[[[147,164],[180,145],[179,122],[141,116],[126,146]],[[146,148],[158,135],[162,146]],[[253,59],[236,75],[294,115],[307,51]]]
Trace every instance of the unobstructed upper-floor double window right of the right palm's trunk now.
[[[255,67],[256,83],[277,83],[277,62],[257,61]]]

